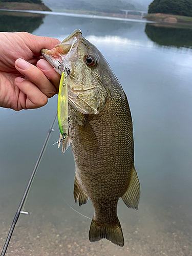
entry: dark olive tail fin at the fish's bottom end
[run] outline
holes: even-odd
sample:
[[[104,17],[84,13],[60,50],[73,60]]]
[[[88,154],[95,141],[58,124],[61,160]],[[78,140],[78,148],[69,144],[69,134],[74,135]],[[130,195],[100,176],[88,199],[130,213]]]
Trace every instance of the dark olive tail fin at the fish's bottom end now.
[[[93,217],[89,230],[89,240],[90,242],[95,242],[102,238],[106,238],[121,247],[124,245],[123,232],[119,220],[115,224],[106,224],[95,221]]]

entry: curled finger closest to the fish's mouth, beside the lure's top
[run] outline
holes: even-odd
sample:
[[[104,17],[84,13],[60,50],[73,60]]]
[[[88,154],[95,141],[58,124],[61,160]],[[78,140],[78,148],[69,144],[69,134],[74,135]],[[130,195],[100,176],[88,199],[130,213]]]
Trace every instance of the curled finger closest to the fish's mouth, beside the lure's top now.
[[[46,77],[54,84],[58,93],[60,75],[45,59],[40,59],[37,62],[37,68],[40,69],[46,75]]]

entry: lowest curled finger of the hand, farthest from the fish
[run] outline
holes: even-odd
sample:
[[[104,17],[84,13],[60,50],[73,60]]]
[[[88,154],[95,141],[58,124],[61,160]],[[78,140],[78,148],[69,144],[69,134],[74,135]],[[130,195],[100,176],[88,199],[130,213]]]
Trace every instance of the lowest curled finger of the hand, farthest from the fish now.
[[[17,109],[37,109],[48,102],[48,97],[31,81],[16,77],[15,84],[22,93],[19,94]]]

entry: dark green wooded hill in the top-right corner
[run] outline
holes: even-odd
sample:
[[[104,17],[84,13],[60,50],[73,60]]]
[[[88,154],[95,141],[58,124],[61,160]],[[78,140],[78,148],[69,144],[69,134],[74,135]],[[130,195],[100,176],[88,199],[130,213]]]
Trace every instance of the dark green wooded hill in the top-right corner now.
[[[192,0],[154,0],[148,13],[166,13],[192,17]]]

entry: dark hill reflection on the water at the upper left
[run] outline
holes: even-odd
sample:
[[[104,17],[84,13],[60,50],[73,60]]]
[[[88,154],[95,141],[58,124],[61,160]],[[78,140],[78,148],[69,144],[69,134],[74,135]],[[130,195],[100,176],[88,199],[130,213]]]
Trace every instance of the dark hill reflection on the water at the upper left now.
[[[42,23],[45,15],[27,14],[15,12],[0,12],[0,31],[1,32],[20,32],[32,33]]]

